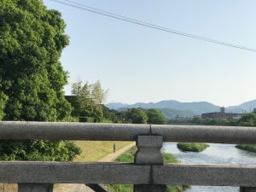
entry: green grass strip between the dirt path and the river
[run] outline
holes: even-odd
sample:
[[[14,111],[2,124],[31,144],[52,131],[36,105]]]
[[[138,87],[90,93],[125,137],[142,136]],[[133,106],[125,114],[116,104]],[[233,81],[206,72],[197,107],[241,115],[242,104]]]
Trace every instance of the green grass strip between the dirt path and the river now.
[[[119,156],[119,158],[116,161],[132,163],[134,161],[134,154],[136,153],[136,151],[137,151],[136,147],[131,148],[125,154],[122,154],[121,156]],[[179,162],[177,160],[177,158],[175,156],[173,156],[172,154],[163,153],[163,157],[164,157],[165,163],[178,163]],[[189,188],[189,186],[185,186],[185,185],[167,185],[168,192],[181,192],[188,188]],[[111,185],[108,185],[108,191],[109,192],[132,192],[133,185],[131,185],[131,184],[111,184]]]

